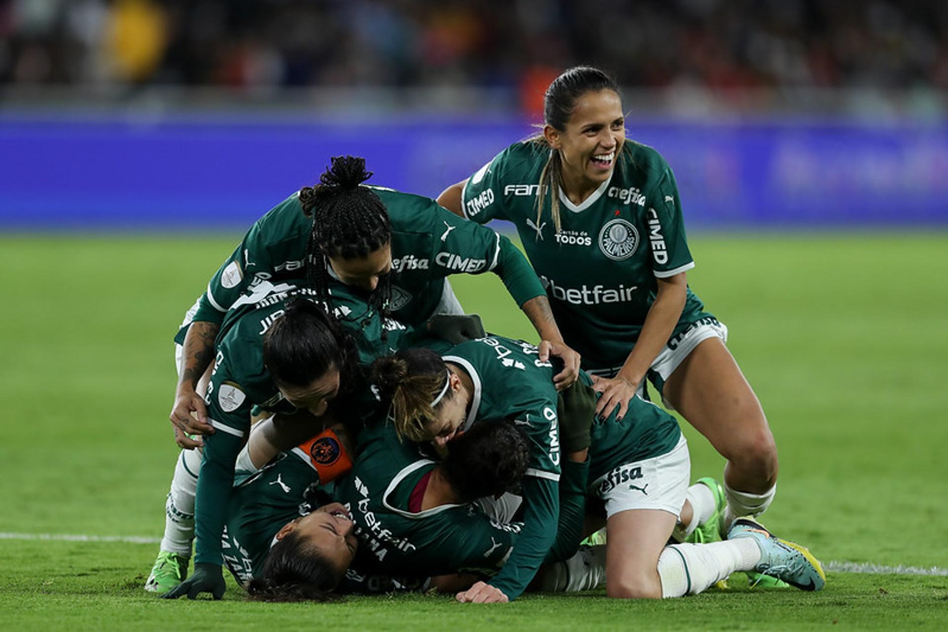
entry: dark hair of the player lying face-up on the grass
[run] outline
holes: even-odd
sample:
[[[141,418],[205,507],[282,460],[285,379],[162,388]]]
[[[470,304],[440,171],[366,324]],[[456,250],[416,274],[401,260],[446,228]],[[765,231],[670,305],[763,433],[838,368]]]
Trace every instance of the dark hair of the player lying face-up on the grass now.
[[[326,602],[345,569],[337,569],[299,533],[287,533],[270,549],[264,566],[246,587],[251,599],[263,602]]]

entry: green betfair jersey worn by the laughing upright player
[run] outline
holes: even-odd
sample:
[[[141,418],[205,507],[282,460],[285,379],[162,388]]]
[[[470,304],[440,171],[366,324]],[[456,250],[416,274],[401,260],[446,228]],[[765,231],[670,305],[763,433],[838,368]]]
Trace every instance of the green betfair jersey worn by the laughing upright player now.
[[[465,216],[509,220],[546,288],[567,344],[583,368],[621,367],[655,300],[657,281],[694,267],[671,169],[655,150],[626,141],[612,177],[582,204],[562,191],[561,230],[549,203],[537,219],[540,172],[549,150],[511,145],[465,183]],[[710,316],[690,289],[675,332]]]

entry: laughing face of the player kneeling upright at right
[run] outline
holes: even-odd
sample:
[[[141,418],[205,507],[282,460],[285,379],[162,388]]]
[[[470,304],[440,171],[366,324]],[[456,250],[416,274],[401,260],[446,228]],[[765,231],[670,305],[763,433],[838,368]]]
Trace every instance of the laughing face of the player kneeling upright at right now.
[[[626,142],[625,125],[622,99],[612,90],[599,90],[576,99],[565,130],[543,128],[550,146],[562,157],[567,195],[590,192],[611,178]]]

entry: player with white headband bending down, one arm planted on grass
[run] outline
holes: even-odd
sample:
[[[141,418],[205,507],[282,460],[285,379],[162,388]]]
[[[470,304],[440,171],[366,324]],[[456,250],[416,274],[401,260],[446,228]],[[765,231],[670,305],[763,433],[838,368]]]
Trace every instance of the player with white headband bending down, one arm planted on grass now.
[[[392,402],[392,424],[404,439],[431,441],[445,450],[447,442],[472,425],[504,419],[530,440],[522,483],[524,526],[517,546],[489,583],[478,582],[459,593],[460,601],[516,599],[554,545],[562,447],[576,451],[589,445],[592,407],[585,419],[560,419],[552,375],[537,347],[496,335],[457,345],[445,356],[410,349],[374,365],[374,383],[383,400]]]

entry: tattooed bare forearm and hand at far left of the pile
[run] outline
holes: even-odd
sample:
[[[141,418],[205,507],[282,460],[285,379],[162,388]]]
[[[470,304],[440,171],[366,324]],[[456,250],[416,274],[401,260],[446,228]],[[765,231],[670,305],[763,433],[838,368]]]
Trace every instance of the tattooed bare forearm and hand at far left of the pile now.
[[[220,325],[213,322],[195,321],[188,328],[184,339],[184,352],[177,385],[174,388],[174,406],[169,419],[174,427],[174,441],[185,449],[201,445],[187,434],[211,434],[214,428],[208,424],[208,410],[204,400],[197,394],[197,384],[208,370],[214,354],[214,338]],[[196,415],[196,418],[195,418]]]

